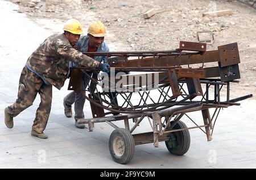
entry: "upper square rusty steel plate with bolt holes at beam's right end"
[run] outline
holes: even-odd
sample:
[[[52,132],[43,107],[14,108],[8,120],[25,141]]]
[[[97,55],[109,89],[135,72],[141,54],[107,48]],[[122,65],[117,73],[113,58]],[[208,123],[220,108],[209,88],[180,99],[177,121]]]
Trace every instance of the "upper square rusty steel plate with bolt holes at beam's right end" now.
[[[221,67],[240,63],[237,43],[221,45],[218,47]]]

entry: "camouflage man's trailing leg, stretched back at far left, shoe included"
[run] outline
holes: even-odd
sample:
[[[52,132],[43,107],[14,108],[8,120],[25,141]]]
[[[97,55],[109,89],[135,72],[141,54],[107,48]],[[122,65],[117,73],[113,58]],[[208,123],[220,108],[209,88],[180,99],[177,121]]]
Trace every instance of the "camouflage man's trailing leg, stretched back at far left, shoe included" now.
[[[36,74],[32,73],[25,66],[19,79],[18,99],[16,99],[13,105],[5,108],[5,124],[8,128],[13,128],[13,117],[30,107],[34,102],[38,93],[35,78]]]

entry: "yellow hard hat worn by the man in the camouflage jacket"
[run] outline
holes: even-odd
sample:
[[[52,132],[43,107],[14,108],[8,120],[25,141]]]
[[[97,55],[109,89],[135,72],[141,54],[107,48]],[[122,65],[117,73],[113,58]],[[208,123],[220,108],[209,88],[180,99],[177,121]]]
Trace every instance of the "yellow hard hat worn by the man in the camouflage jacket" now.
[[[71,32],[75,35],[82,35],[84,32],[82,32],[82,24],[79,22],[79,20],[76,19],[69,19],[64,24],[64,31]]]

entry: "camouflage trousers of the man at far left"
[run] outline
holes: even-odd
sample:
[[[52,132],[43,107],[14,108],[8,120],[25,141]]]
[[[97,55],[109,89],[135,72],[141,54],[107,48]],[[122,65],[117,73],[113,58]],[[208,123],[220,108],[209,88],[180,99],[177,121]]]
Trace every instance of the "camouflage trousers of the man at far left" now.
[[[52,103],[52,85],[46,85],[43,79],[24,66],[19,79],[18,99],[8,107],[8,114],[15,117],[26,108],[30,107],[36,95],[39,94],[41,102],[36,110],[36,117],[32,129],[43,132],[46,128]]]

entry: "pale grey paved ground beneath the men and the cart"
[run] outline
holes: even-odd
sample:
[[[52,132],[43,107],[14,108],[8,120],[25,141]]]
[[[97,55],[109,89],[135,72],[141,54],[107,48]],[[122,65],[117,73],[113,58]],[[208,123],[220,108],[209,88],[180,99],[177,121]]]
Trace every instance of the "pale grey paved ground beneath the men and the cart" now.
[[[112,127],[98,123],[88,132],[77,129],[72,118],[65,118],[62,99],[69,92],[68,81],[60,91],[53,89],[45,131],[48,139],[30,136],[39,97],[14,118],[13,129],[6,128],[3,111],[16,99],[20,72],[31,52],[52,34],[14,9],[11,3],[0,1],[0,24],[7,24],[0,30],[0,168],[256,168],[255,101],[243,101],[239,107],[221,111],[210,142],[199,129],[191,130],[191,147],[184,156],[171,155],[164,143],[159,148],[138,145],[127,165],[119,165],[110,157]],[[90,117],[88,105],[85,114]],[[201,115],[197,112],[191,116],[197,119]],[[187,119],[184,122],[189,125]],[[137,131],[148,128],[145,122]]]

